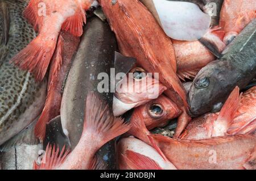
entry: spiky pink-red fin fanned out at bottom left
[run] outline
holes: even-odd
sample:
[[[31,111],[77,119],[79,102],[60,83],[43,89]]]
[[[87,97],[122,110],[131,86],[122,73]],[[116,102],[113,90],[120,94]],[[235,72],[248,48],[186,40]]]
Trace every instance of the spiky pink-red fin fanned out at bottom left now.
[[[60,153],[59,151],[59,146],[57,146],[57,149],[55,149],[55,145],[52,147],[48,144],[46,147],[46,152],[40,160],[40,165],[34,162],[34,170],[53,170],[56,169],[57,166],[60,166],[67,158],[69,150],[65,150],[65,146],[63,146]]]

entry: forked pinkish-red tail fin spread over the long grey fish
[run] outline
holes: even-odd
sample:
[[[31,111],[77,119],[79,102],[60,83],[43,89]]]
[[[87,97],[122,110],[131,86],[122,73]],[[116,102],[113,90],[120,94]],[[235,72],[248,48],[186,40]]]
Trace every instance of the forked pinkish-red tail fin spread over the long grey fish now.
[[[113,138],[126,133],[130,124],[118,117],[113,116],[110,108],[95,92],[89,92],[86,99],[84,131],[92,132],[99,137],[99,147],[106,144]]]

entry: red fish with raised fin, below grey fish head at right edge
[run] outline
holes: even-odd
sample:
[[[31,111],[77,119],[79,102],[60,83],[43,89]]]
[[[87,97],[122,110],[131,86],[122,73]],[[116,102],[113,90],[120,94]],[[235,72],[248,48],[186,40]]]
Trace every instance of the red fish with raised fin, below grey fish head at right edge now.
[[[189,123],[180,138],[201,140],[225,134],[248,134],[256,130],[256,86],[239,96],[236,87],[218,113],[207,113]]]

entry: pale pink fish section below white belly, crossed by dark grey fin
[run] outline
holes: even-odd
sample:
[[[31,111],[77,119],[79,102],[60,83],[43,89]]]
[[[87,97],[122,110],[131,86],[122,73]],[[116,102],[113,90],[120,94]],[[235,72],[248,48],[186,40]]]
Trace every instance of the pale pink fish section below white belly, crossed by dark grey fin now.
[[[210,47],[214,47],[217,52],[222,52],[226,45],[221,41],[223,33],[219,28],[212,28],[201,39],[204,42],[210,42]],[[182,80],[195,78],[196,74],[209,64],[216,60],[216,56],[205,47],[200,41],[178,41],[172,40],[177,60],[177,75]]]

